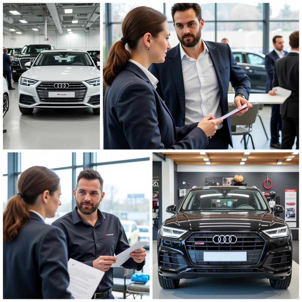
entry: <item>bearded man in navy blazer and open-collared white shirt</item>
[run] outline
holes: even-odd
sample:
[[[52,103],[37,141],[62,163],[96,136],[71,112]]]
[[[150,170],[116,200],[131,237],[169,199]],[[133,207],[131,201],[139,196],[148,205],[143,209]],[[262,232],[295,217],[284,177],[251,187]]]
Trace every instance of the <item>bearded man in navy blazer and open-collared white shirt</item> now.
[[[159,80],[156,91],[165,101],[177,127],[200,120],[207,114],[219,118],[228,112],[229,82],[235,88],[234,103],[241,108],[251,88],[248,76],[237,65],[227,43],[201,39],[204,20],[198,3],[172,6],[173,25],[180,43],[167,51],[164,63],[152,64]],[[242,115],[244,109],[236,115]],[[206,149],[228,149],[232,144],[230,119],[209,138]]]

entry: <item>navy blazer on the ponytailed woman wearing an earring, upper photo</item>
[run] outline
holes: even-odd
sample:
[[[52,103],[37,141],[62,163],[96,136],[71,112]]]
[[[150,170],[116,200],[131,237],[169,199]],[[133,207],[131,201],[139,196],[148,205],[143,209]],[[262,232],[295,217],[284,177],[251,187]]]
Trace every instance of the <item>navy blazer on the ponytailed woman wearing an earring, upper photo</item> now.
[[[106,89],[104,149],[203,149],[208,139],[197,124],[175,127],[148,77],[132,62]]]

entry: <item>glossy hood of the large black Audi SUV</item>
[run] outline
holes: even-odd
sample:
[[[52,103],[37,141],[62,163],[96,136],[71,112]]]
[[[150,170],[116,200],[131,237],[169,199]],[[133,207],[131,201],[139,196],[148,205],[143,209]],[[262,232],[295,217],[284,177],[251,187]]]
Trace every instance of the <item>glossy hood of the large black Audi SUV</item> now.
[[[284,226],[283,219],[258,210],[185,211],[165,220],[165,226],[189,231],[261,231]]]

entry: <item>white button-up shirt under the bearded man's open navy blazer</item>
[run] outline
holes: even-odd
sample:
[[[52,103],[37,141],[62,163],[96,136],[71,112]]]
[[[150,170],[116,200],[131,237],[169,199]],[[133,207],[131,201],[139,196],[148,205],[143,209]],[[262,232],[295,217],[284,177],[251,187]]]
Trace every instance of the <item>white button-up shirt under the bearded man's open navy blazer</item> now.
[[[212,114],[221,117],[220,93],[215,69],[209,50],[202,40],[204,51],[197,60],[189,57],[179,43],[182,75],[185,86],[185,124],[199,122]],[[223,124],[219,124],[220,129]]]

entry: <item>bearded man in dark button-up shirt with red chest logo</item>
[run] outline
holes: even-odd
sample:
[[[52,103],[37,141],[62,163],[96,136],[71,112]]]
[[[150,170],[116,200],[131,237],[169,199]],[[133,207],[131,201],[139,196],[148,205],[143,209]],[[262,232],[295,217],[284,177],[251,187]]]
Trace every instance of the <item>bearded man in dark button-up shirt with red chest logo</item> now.
[[[129,248],[127,236],[118,217],[98,209],[104,198],[103,179],[92,169],[80,172],[73,197],[76,207],[72,212],[60,217],[52,224],[58,226],[67,239],[68,258],[90,265],[105,272],[95,299],[114,299],[112,264],[120,252]],[[140,271],[145,264],[146,250],[131,253],[122,266]]]

